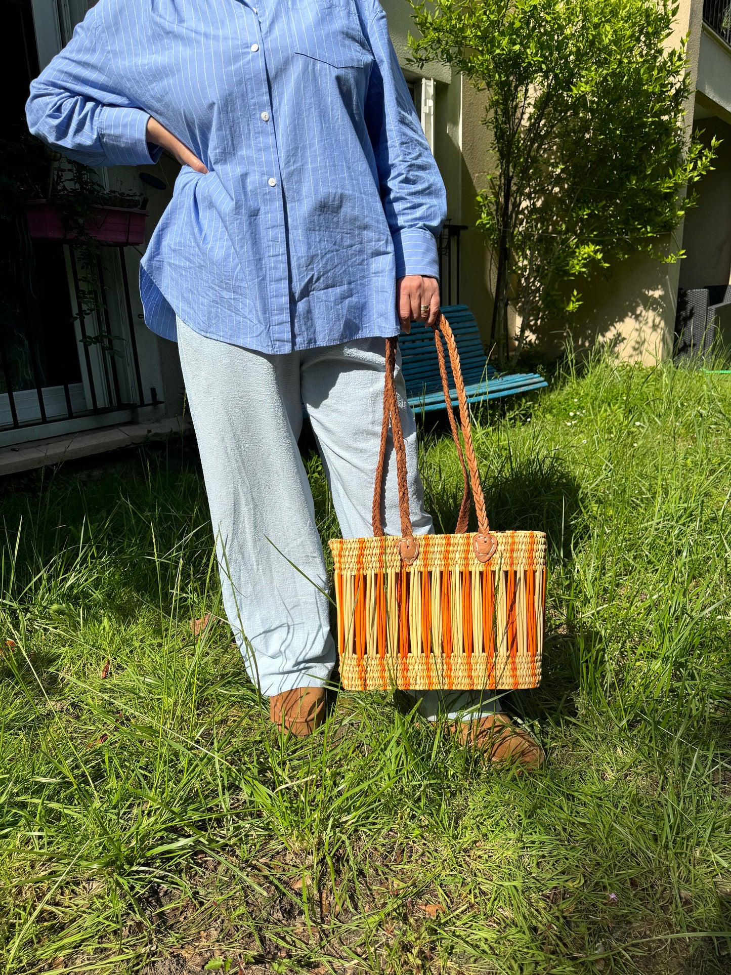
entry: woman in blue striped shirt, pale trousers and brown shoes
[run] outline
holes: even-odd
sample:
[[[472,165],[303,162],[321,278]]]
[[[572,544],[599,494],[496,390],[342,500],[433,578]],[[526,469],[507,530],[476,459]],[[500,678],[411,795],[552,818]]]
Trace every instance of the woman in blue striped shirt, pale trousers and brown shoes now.
[[[163,148],[183,166],[142,261],[145,320],[178,342],[250,676],[272,721],[308,733],[335,648],[302,403],[343,534],[369,534],[384,338],[440,307],[442,178],[385,14],[377,0],[99,0],[31,86],[27,116],[90,166]],[[411,520],[429,532],[401,373],[398,389]],[[385,527],[398,533],[394,467]],[[421,706],[434,718],[441,705],[432,693]],[[458,695],[447,710],[489,732],[496,757],[540,761],[495,701]]]

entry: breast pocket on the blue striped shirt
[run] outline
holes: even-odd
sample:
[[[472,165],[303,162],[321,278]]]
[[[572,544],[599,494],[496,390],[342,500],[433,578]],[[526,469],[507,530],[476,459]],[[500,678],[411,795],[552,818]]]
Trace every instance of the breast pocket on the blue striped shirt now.
[[[354,0],[289,0],[292,47],[332,67],[364,68],[373,59]]]

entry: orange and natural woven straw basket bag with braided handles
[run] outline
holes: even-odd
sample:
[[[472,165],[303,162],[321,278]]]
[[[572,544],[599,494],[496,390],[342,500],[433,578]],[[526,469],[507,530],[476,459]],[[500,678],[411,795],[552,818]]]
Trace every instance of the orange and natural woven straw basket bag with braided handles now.
[[[394,382],[397,338],[388,338],[373,537],[329,543],[335,564],[340,678],[348,690],[535,687],[541,680],[546,536],[542,531],[490,531],[457,346],[443,315],[434,334],[447,416],[464,477],[456,531],[413,535]],[[442,335],[457,389],[464,448],[451,408]],[[389,424],[396,448],[402,537],[384,535],[381,527]],[[478,515],[476,533],[467,531],[470,485]]]

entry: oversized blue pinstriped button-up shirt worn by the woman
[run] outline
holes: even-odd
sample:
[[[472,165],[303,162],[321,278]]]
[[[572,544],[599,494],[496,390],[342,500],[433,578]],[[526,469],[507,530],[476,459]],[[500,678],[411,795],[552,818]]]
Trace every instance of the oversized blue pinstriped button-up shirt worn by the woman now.
[[[399,331],[445,195],[377,0],[99,0],[33,82],[31,132],[90,166],[183,167],[140,268],[148,326],[267,353]]]

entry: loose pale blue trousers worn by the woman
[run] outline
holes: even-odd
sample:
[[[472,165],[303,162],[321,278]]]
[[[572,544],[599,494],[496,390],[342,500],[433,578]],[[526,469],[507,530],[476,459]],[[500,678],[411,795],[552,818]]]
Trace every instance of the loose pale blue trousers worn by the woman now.
[[[327,682],[335,663],[327,571],[310,485],[297,448],[302,404],[323,459],[343,537],[372,534],[385,344],[365,338],[266,355],[208,338],[177,321],[185,379],[211,507],[223,604],[262,694]],[[397,363],[411,522],[433,530],[417,471],[416,424]],[[396,464],[384,485],[384,530],[401,534]],[[456,713],[484,697],[432,691],[421,710]],[[494,703],[481,703],[487,713]]]

